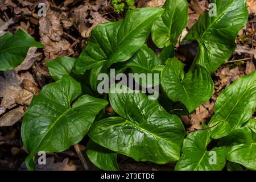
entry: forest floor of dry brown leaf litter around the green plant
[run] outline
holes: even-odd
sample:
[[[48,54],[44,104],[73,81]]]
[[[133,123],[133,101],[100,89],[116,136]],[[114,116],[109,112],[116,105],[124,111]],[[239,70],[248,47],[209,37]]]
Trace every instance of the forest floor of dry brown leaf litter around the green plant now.
[[[38,15],[38,3],[46,4],[46,16]],[[189,2],[189,22],[183,36],[208,10],[207,0]],[[136,7],[161,7],[164,0],[135,0]],[[198,107],[195,113],[181,116],[187,131],[201,129],[201,122],[208,123],[212,117],[214,102],[218,95],[238,77],[248,75],[255,70],[256,60],[256,1],[247,0],[249,19],[246,26],[238,33],[237,48],[230,60],[212,74],[214,94],[210,101]],[[31,99],[52,78],[43,64],[59,56],[79,56],[88,41],[90,31],[99,23],[116,21],[125,16],[117,14],[109,0],[52,0],[52,1],[0,1],[0,36],[18,28],[28,32],[35,40],[44,44],[43,49],[31,48],[24,64],[15,71],[0,72],[0,170],[26,170],[24,159],[27,152],[22,146],[20,126],[24,111]],[[150,44],[150,40],[148,40]],[[156,47],[155,52],[160,50]],[[197,45],[194,43],[176,45],[179,60],[191,61]],[[256,115],[254,113],[254,117]],[[85,154],[85,140],[79,143],[79,150]],[[85,156],[86,158],[86,156]],[[59,154],[47,154],[47,165],[39,170],[84,170],[79,155],[74,147]],[[134,162],[125,156],[118,156],[121,170],[172,170],[174,164],[157,165],[149,162]],[[91,169],[96,169],[90,164]]]

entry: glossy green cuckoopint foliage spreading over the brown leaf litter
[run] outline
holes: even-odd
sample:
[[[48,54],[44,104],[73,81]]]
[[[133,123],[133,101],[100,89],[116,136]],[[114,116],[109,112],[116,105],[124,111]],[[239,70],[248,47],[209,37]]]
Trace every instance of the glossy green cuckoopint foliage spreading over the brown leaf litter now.
[[[222,170],[237,165],[256,170],[256,121],[251,119],[256,107],[255,71],[218,96],[214,115],[203,130],[187,134],[179,118],[209,101],[214,89],[210,74],[232,55],[237,33],[247,22],[246,0],[211,2],[216,4],[216,16],[201,14],[183,39],[198,43],[188,71],[184,68],[189,65],[174,56],[174,46],[188,23],[185,0],[127,11],[118,22],[94,27],[77,59],[48,61],[56,82],[33,98],[22,121],[27,168],[36,169],[37,152],[67,150],[88,135],[86,155],[104,170],[118,170],[118,154],[141,162],[172,162],[175,170]],[[149,36],[162,49],[160,56],[147,46]],[[21,30],[0,39],[1,71],[22,63],[29,47],[42,47]],[[109,75],[110,69],[117,74],[159,74],[151,84],[134,79],[145,87],[160,85],[159,97],[151,100],[148,93],[134,92],[120,82],[112,83],[112,92],[102,96],[98,75]],[[106,106],[114,113],[105,113]],[[177,107],[183,111],[175,111]],[[209,148],[212,140],[217,142]]]

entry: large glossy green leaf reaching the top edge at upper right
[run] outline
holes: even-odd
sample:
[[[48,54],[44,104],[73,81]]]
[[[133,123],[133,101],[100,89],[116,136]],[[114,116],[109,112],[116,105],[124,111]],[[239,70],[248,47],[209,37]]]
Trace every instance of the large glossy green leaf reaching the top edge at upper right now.
[[[210,73],[232,55],[237,33],[248,19],[246,0],[213,0],[212,3],[216,4],[216,16],[210,16],[208,12],[201,14],[183,40],[197,40],[199,50],[194,64],[202,65]]]

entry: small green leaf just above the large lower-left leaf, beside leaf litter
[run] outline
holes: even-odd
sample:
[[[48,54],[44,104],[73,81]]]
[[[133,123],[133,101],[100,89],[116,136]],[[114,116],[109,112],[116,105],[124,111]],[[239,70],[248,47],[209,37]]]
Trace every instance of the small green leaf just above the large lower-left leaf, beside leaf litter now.
[[[76,59],[72,57],[57,57],[51,61],[47,61],[46,64],[51,77],[57,81],[60,80],[64,75],[69,75],[75,65]]]

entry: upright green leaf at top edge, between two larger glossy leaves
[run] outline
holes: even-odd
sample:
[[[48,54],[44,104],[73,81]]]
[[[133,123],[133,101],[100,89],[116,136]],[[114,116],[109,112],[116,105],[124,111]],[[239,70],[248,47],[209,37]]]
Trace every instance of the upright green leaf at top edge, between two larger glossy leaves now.
[[[167,0],[164,13],[152,26],[152,40],[159,48],[175,45],[177,38],[188,24],[187,0]]]

